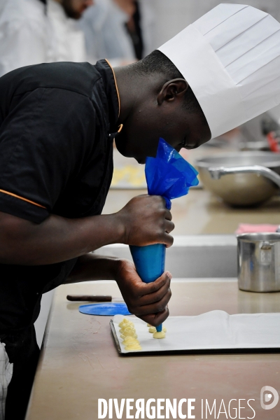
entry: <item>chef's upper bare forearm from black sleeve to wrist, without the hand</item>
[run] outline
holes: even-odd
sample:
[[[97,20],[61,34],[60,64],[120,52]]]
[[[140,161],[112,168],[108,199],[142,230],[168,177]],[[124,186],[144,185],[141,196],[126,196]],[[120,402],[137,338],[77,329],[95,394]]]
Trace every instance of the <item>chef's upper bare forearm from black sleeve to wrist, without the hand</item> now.
[[[76,219],[51,215],[40,224],[0,216],[3,264],[53,264],[123,240],[123,226],[114,214]]]

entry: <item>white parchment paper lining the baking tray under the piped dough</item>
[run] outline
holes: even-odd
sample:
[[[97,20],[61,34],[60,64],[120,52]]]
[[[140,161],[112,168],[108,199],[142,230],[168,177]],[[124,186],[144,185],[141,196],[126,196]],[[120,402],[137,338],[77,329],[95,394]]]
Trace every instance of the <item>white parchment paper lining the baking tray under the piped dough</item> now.
[[[123,318],[134,323],[141,351],[280,348],[280,314],[229,315],[211,311],[197,316],[169,316],[164,323],[164,339],[154,339],[141,319],[116,315],[113,325],[121,353],[130,353],[120,338],[118,324]]]

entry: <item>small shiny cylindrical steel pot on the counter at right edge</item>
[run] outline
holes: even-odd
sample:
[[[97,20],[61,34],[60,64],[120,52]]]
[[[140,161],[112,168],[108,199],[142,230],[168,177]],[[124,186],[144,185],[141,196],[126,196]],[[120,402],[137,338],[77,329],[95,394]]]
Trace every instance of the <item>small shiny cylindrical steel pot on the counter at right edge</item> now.
[[[238,286],[250,292],[280,291],[280,233],[237,235]]]

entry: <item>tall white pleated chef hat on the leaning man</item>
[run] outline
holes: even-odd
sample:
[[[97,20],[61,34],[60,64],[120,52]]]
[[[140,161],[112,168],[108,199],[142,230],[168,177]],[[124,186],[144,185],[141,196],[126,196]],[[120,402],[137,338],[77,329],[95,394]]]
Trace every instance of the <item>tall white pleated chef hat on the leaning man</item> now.
[[[261,10],[220,4],[158,49],[188,81],[212,137],[280,104],[280,24]]]

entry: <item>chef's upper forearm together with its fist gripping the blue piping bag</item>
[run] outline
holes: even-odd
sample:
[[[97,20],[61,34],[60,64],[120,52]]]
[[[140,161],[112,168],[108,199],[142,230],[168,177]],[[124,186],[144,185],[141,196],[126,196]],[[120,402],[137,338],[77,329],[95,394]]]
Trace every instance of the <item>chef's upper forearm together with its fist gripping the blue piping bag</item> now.
[[[0,212],[0,263],[54,264],[80,257],[107,244],[166,244],[174,229],[162,197],[134,197],[115,214],[85,218],[50,215],[36,224]]]

